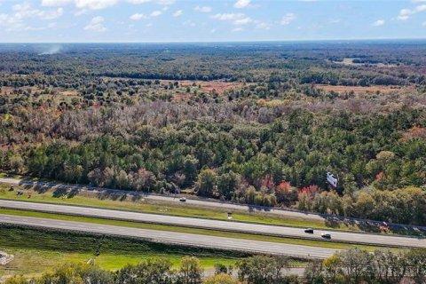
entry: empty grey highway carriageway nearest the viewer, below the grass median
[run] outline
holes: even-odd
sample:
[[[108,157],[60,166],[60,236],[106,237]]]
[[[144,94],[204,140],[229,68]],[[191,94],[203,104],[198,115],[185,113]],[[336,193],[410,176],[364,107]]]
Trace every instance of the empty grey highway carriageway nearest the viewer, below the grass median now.
[[[327,258],[337,251],[333,248],[315,248],[267,241],[240,240],[192,233],[164,232],[115,225],[98,225],[38,217],[18,217],[3,214],[0,214],[0,224],[25,225],[37,228],[49,228],[83,233],[99,233],[140,238],[147,241],[166,242],[176,245],[308,258]]]

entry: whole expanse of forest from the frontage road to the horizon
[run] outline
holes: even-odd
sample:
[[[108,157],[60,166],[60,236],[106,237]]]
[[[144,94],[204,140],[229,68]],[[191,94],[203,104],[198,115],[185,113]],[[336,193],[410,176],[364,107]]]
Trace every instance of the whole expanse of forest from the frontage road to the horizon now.
[[[5,172],[426,225],[424,43],[45,48],[0,46]]]

